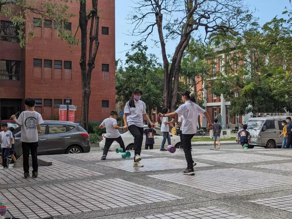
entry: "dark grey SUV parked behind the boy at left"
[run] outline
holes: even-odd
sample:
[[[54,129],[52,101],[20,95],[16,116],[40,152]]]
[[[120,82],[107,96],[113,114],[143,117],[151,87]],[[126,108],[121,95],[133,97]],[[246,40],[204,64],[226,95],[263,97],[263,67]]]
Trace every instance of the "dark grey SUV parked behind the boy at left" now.
[[[89,134],[79,124],[66,121],[44,121],[40,125],[37,154],[74,154],[90,151]],[[22,155],[20,127],[14,130],[15,152]]]

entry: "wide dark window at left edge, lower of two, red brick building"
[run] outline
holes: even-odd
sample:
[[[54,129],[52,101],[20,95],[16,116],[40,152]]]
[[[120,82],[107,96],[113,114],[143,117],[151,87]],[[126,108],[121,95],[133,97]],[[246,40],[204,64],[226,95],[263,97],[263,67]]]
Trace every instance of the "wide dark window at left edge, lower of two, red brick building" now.
[[[19,81],[20,61],[1,60],[0,61],[0,79]]]

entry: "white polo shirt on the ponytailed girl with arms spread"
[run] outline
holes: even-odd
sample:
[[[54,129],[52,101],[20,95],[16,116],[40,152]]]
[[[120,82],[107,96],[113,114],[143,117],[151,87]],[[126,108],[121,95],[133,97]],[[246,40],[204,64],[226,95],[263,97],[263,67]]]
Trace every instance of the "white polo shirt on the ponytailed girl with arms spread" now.
[[[190,100],[187,100],[185,104],[182,104],[176,113],[179,117],[183,116],[182,120],[182,134],[196,134],[198,115],[203,114],[205,110],[196,105]]]

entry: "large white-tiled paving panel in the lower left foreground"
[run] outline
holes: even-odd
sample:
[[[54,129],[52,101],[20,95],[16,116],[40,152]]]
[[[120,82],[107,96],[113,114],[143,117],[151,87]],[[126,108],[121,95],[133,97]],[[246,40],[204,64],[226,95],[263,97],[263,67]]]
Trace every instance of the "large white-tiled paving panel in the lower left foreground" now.
[[[117,178],[5,189],[0,199],[14,217],[32,219],[183,197]]]

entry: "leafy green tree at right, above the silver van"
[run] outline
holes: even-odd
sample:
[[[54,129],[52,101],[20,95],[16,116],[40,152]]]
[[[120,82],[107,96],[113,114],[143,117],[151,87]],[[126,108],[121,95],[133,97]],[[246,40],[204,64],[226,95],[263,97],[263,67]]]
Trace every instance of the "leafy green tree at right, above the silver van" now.
[[[231,101],[231,116],[291,109],[288,69],[292,36],[286,22],[274,18],[260,29],[255,24],[243,37],[214,37],[215,45],[221,45],[221,54],[233,53],[224,72],[217,72],[217,80],[211,83],[213,94],[222,93]]]

